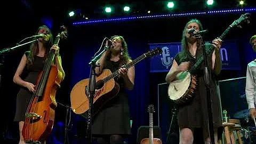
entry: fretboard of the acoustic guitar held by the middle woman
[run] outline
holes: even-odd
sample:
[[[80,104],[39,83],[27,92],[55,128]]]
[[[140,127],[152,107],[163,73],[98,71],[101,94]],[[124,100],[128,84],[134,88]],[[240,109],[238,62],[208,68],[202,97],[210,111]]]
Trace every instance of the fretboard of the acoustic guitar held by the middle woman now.
[[[126,69],[129,69],[130,67],[132,67],[133,65],[135,65],[136,63],[140,62],[141,60],[146,58],[146,54],[142,54],[140,55],[140,57],[136,58],[135,60],[131,61],[130,63],[128,63],[127,65],[124,65],[124,67]],[[108,82],[110,79],[115,78],[116,76],[119,75],[118,73],[119,69],[114,71],[114,73],[112,73],[111,75],[105,77],[103,80],[104,83]]]

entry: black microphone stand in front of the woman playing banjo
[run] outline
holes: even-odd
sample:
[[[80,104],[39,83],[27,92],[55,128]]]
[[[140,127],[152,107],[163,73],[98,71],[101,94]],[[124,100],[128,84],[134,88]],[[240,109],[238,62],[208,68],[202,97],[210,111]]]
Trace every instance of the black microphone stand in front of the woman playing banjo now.
[[[210,77],[211,71],[209,70],[209,63],[207,61],[207,54],[205,50],[205,43],[201,35],[197,35],[197,47],[199,46],[203,49],[203,58],[204,58],[204,83],[206,87],[206,96],[207,96],[207,110],[208,110],[208,126],[209,126],[209,136],[211,144],[214,144],[214,130],[213,130],[213,116],[212,116],[212,95],[210,92]]]

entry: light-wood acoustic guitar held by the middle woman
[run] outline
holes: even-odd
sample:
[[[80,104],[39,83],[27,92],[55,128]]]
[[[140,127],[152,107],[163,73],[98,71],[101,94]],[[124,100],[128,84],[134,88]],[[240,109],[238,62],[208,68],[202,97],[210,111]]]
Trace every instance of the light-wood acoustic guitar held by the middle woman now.
[[[158,47],[154,50],[151,50],[147,53],[142,54],[137,59],[131,61],[127,65],[124,65],[125,68],[129,69],[134,66],[141,60],[149,57],[153,57],[162,53],[162,49]],[[114,78],[118,76],[118,70],[111,73],[109,69],[104,69],[99,76],[95,77],[95,93],[93,95],[93,117],[98,111],[102,108],[105,103],[110,99],[114,98],[119,92],[119,84],[114,81]],[[70,93],[70,102],[71,109],[77,115],[82,115],[87,118],[89,114],[89,101],[90,101],[90,92],[89,92],[89,81],[90,78],[83,79],[75,84]]]

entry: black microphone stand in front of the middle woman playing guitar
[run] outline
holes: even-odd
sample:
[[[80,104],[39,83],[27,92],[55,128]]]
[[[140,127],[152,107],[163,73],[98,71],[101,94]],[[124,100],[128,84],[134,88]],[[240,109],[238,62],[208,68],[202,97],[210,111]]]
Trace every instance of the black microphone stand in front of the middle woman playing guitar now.
[[[89,141],[92,143],[92,113],[93,113],[93,96],[95,93],[95,67],[99,67],[96,65],[96,61],[101,57],[101,55],[109,49],[109,46],[105,46],[105,49],[100,52],[98,55],[95,53],[95,57],[92,57],[92,60],[89,62],[89,65],[91,65],[91,73],[90,73],[90,79],[89,79],[89,92],[90,92],[90,100],[89,100],[89,113],[87,117],[87,131],[89,135]],[[86,90],[85,90],[86,91]]]

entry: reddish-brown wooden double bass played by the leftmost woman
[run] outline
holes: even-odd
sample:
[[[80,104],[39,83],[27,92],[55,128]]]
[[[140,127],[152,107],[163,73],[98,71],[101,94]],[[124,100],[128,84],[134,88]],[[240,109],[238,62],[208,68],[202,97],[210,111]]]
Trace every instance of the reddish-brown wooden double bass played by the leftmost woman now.
[[[56,36],[54,44],[59,44],[60,39],[67,37],[67,29],[61,26],[61,32]],[[36,89],[33,93],[25,114],[25,123],[22,135],[25,142],[43,142],[51,133],[55,108],[55,94],[63,80],[62,73],[52,65],[55,57],[54,50],[47,55],[43,70],[36,81]]]

